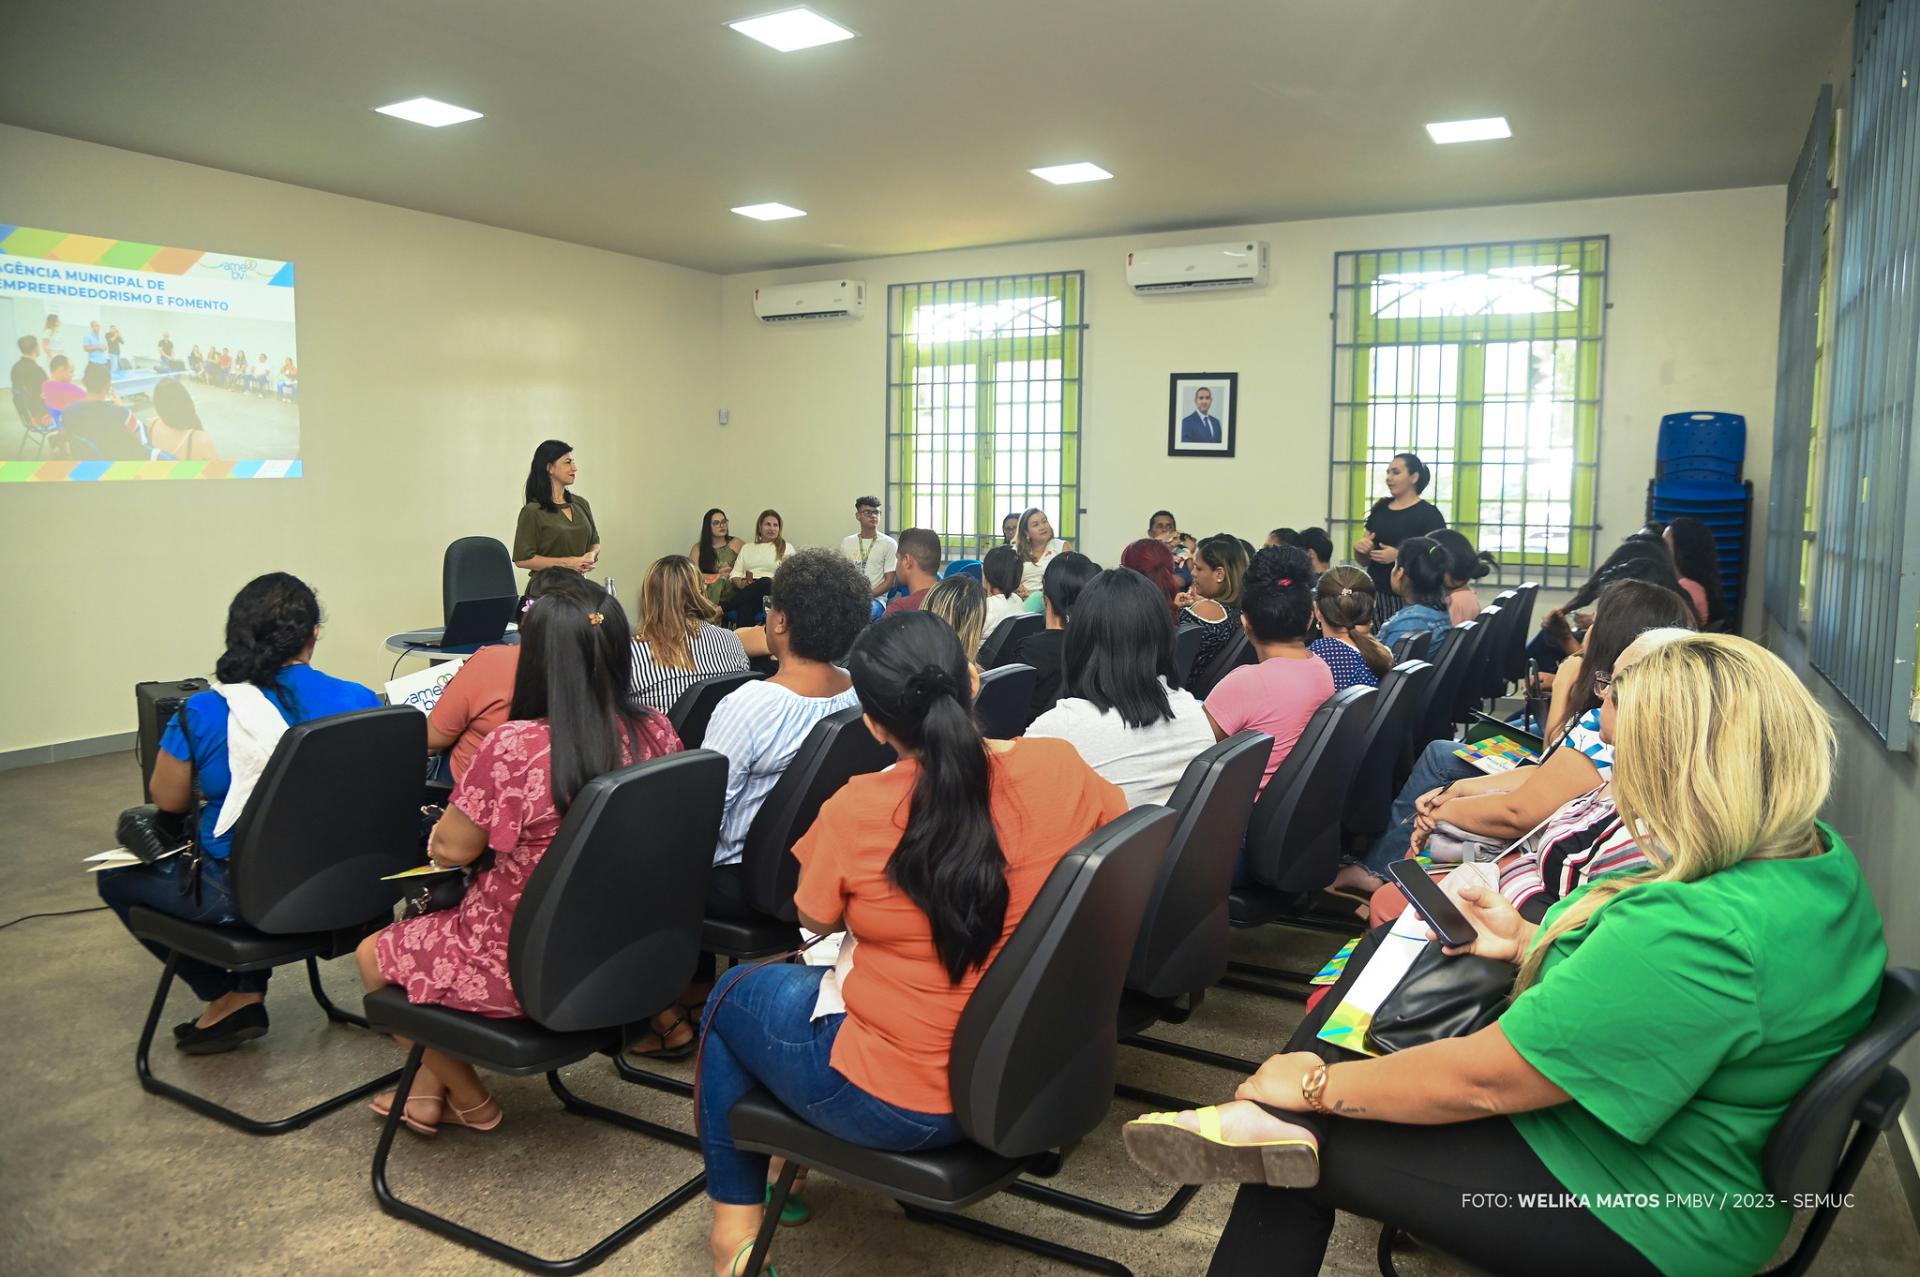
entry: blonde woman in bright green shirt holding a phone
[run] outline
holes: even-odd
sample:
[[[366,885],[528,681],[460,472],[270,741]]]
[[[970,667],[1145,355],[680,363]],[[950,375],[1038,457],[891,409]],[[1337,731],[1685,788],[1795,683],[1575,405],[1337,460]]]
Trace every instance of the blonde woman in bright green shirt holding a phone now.
[[[1150,1169],[1250,1181],[1212,1273],[1319,1271],[1334,1210],[1492,1271],[1753,1273],[1778,1248],[1766,1139],[1872,1020],[1887,962],[1814,818],[1834,730],[1726,636],[1659,647],[1603,695],[1615,803],[1653,864],[1538,928],[1461,893],[1473,952],[1519,966],[1496,1024],[1373,1060],[1279,1054],[1235,1104],[1127,1125]]]

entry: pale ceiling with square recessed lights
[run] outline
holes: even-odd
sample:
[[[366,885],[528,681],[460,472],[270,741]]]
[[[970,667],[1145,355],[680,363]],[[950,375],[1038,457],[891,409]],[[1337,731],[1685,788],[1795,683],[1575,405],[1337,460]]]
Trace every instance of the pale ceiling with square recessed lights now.
[[[797,54],[724,25],[778,8],[21,0],[0,119],[737,273],[1784,182],[1853,4],[818,0],[860,38]],[[371,109],[419,94],[486,119]],[[1476,115],[1513,140],[1421,127]],[[1073,159],[1116,179],[1027,175]],[[728,211],[766,200],[810,215]]]

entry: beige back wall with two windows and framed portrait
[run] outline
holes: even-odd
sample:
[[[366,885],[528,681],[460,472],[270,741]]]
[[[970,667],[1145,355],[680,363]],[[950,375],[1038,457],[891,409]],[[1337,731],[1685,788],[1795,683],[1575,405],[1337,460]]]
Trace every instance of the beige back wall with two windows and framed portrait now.
[[[795,540],[845,536],[852,497],[881,490],[883,480],[887,284],[1083,269],[1081,545],[1114,561],[1158,507],[1173,509],[1188,530],[1231,528],[1258,543],[1271,526],[1327,517],[1327,311],[1336,252],[1611,234],[1601,543],[1640,524],[1659,419],[1678,409],[1747,415],[1747,474],[1764,515],[1782,217],[1784,188],[1766,186],[1021,244],[728,277],[720,325],[732,424],[708,421],[697,436],[730,463],[712,472],[705,494],[735,522],[776,505]],[[1240,236],[1273,244],[1271,286],[1148,298],[1127,288],[1131,248]],[[866,319],[760,325],[753,317],[755,288],[828,277],[866,280]],[[1187,369],[1240,373],[1236,459],[1165,455],[1167,373]],[[1755,543],[1764,543],[1759,526]]]

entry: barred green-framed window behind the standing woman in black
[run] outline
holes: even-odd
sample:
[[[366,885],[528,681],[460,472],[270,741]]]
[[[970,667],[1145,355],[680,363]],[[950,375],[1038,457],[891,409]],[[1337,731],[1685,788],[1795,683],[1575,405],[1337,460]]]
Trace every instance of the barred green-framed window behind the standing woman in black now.
[[[1607,236],[1334,253],[1336,549],[1365,532],[1398,451],[1500,561],[1496,584],[1574,586],[1594,565]]]

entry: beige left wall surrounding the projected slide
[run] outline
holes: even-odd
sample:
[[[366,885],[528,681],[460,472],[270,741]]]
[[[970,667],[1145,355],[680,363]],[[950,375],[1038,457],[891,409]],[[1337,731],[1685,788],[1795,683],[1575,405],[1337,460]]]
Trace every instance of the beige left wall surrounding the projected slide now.
[[[307,472],[0,488],[0,755],[131,730],[131,684],[207,672],[232,591],[275,568],[321,593],[317,664],[378,686],[382,638],[440,618],[442,547],[513,538],[547,436],[624,595],[689,540],[699,511],[660,494],[712,421],[689,388],[720,374],[714,277],[19,129],[0,173],[15,225],[294,261]]]

